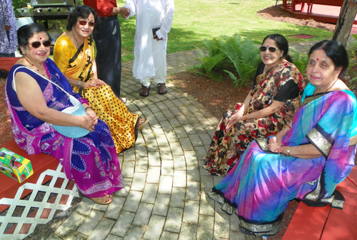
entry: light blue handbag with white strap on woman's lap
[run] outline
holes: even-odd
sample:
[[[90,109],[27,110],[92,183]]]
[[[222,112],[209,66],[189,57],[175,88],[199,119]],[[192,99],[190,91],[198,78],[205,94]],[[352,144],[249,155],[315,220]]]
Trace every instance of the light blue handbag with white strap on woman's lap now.
[[[67,91],[65,91],[63,88],[61,88],[61,86],[55,84],[53,81],[51,81],[49,79],[46,79],[46,80],[51,82],[51,84],[54,84],[55,86],[57,86],[59,89],[64,91],[64,93],[67,96],[69,96],[69,101],[71,101],[71,104],[73,106],[69,106],[68,108],[63,109],[61,112],[65,113],[65,114],[75,115],[75,116],[86,115],[86,109],[84,109],[84,107],[82,106],[81,102],[79,102],[78,99],[76,99],[74,96],[72,96]],[[51,126],[54,128],[54,130],[58,131],[60,134],[62,134],[64,136],[68,136],[72,139],[77,139],[81,136],[86,136],[87,134],[90,133],[89,130],[81,128],[80,126],[59,126],[59,125],[54,125],[54,124],[51,124]]]

